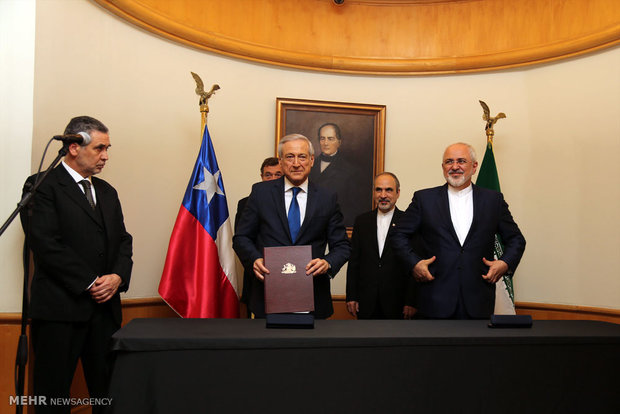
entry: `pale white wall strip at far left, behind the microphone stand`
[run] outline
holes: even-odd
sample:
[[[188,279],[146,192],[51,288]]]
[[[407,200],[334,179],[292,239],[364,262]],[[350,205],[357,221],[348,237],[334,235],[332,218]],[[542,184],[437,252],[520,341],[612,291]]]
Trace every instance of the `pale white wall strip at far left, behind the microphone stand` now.
[[[30,174],[34,30],[34,0],[0,0],[0,225]],[[23,243],[16,218],[0,237],[0,312],[21,311]]]

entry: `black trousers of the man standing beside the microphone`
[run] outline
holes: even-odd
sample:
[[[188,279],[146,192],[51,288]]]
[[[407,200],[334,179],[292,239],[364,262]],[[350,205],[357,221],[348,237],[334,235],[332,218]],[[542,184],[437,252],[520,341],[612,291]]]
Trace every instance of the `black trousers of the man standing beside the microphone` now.
[[[52,405],[51,399],[69,398],[78,359],[82,360],[90,397],[107,397],[110,380],[110,337],[120,326],[105,305],[97,305],[85,322],[32,321],[34,395],[45,396],[47,405],[38,413],[70,413],[69,405]],[[93,413],[105,407],[93,406]]]

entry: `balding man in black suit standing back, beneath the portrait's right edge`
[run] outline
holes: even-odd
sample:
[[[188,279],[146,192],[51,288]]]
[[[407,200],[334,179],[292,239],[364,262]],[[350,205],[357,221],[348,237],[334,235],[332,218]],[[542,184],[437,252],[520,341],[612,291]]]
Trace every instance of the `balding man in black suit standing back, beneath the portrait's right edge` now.
[[[377,175],[373,194],[377,208],[357,216],[353,226],[347,310],[358,319],[411,319],[415,282],[387,237],[403,214],[396,207],[398,178],[390,172]]]

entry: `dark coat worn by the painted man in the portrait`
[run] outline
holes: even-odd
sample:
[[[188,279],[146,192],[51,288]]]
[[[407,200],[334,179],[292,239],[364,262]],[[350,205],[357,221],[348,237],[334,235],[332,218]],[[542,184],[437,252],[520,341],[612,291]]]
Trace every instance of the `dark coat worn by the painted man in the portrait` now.
[[[357,167],[344,159],[339,152],[323,172],[321,172],[321,158],[317,157],[308,177],[310,182],[338,194],[338,203],[344,215],[344,225],[347,227],[353,225],[357,215],[371,208],[370,192],[364,192],[365,187],[355,185],[360,175]]]

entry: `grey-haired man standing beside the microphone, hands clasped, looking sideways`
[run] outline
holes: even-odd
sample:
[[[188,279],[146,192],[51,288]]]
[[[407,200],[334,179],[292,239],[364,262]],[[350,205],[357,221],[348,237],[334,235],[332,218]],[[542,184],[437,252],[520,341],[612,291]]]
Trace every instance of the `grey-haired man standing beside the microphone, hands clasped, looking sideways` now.
[[[29,315],[34,395],[48,401],[69,397],[78,358],[90,396],[107,395],[109,340],[121,326],[119,292],[129,287],[133,263],[132,237],[116,190],[93,177],[108,160],[108,128],[80,116],[65,129],[65,134],[78,132],[88,133],[91,141],[70,144],[62,164],[41,184],[27,235],[35,264]],[[69,413],[70,407],[48,404],[37,412]]]

